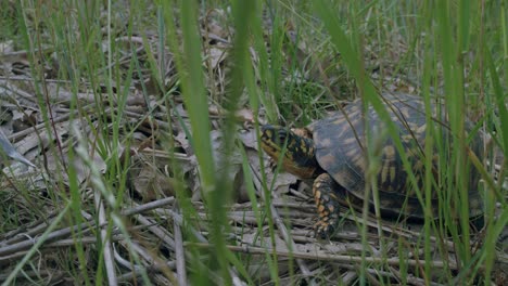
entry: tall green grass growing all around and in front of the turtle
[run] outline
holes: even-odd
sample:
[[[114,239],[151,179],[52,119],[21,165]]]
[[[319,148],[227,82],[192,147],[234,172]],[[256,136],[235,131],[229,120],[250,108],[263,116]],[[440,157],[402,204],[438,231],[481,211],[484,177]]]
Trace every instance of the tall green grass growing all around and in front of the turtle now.
[[[13,5],[13,6],[11,6]],[[498,9],[498,6],[500,9]],[[116,14],[116,9],[125,9],[125,14]],[[215,94],[214,78],[206,74],[203,62],[207,56],[206,48],[209,43],[201,35],[201,20],[211,10],[219,9],[224,12],[224,25],[231,28],[230,50],[227,62],[227,89],[224,94]],[[274,184],[268,183],[262,164],[261,178],[262,192],[253,183],[256,178],[250,169],[246,152],[238,140],[237,112],[246,107],[254,115],[253,128],[259,136],[259,118],[262,121],[284,123],[287,126],[301,126],[312,119],[326,116],[329,110],[339,109],[345,99],[360,98],[366,106],[372,106],[386,122],[388,134],[394,139],[397,151],[405,154],[398,131],[391,122],[382,98],[379,96],[392,86],[397,86],[398,79],[405,80],[402,89],[407,86],[415,87],[426,103],[427,115],[427,144],[423,151],[426,172],[426,187],[416,193],[426,206],[426,219],[421,237],[417,246],[423,249],[424,261],[419,271],[411,272],[407,262],[411,251],[403,237],[397,237],[398,258],[401,260],[399,278],[402,283],[418,273],[426,284],[434,282],[432,276],[437,266],[433,263],[435,255],[442,256],[445,263],[442,270],[441,283],[454,282],[457,284],[474,284],[483,281],[490,284],[491,272],[494,269],[495,243],[508,223],[506,211],[506,192],[501,184],[494,184],[491,170],[484,168],[483,158],[471,158],[469,145],[474,135],[482,132],[493,136],[493,145],[506,153],[508,150],[508,110],[506,107],[506,82],[508,75],[508,31],[506,1],[156,1],[144,3],[131,2],[129,8],[118,8],[112,1],[68,2],[53,1],[36,5],[29,1],[16,3],[0,2],[0,39],[15,39],[16,47],[27,51],[31,75],[36,82],[37,102],[42,113],[45,129],[54,135],[48,151],[56,154],[55,157],[67,158],[59,165],[59,171],[53,173],[54,181],[48,183],[51,190],[49,198],[53,206],[60,207],[62,213],[52,220],[48,232],[56,224],[65,222],[77,225],[71,229],[73,233],[73,252],[77,253],[77,264],[61,261],[64,269],[76,281],[91,285],[112,283],[112,259],[109,257],[109,244],[115,234],[123,234],[126,248],[132,264],[142,264],[137,249],[137,243],[142,239],[142,233],[132,232],[130,221],[123,216],[122,210],[128,200],[127,187],[128,172],[131,168],[130,153],[125,157],[118,156],[122,150],[128,150],[131,135],[135,131],[123,126],[127,118],[127,102],[129,88],[134,86],[136,77],[142,78],[143,73],[150,74],[155,90],[160,92],[163,102],[167,103],[170,112],[167,115],[168,125],[181,123],[187,140],[194,152],[200,192],[205,211],[205,219],[201,218],[195,209],[186,186],[182,167],[176,159],[178,146],[172,135],[168,136],[167,151],[172,157],[172,174],[176,179],[175,196],[178,204],[174,206],[176,212],[181,210],[182,237],[186,250],[187,269],[190,276],[188,282],[193,285],[232,285],[234,277],[240,277],[249,284],[261,283],[256,277],[254,262],[261,257],[266,263],[271,284],[284,284],[277,251],[279,243],[279,223],[274,219],[271,192]],[[14,11],[14,12],[13,12]],[[17,14],[16,14],[17,13]],[[99,20],[101,13],[106,13],[106,23]],[[42,16],[49,14],[50,16]],[[71,15],[71,16],[69,16]],[[152,25],[156,23],[155,25]],[[268,23],[268,24],[267,24]],[[43,24],[43,25],[42,25]],[[155,26],[154,31],[158,42],[153,48],[149,42],[148,28]],[[4,28],[3,27],[8,27]],[[105,27],[105,28],[104,28]],[[147,29],[144,29],[147,27]],[[267,28],[269,27],[269,28]],[[147,62],[141,62],[135,48],[128,60],[128,68],[120,67],[123,54],[115,32],[125,32],[124,36],[136,36],[142,39],[142,48],[147,53]],[[294,35],[293,35],[294,32]],[[293,37],[294,36],[294,37]],[[107,39],[107,53],[101,47],[103,38]],[[53,123],[52,102],[50,102],[45,75],[39,65],[43,48],[50,46],[60,63],[58,79],[64,82],[66,89],[75,95],[69,104],[71,119],[81,119],[89,126],[88,143],[81,141],[76,148],[64,153],[63,146],[56,135],[58,127]],[[169,70],[164,66],[165,48],[172,52],[175,61],[175,78],[177,84],[167,87],[166,77]],[[372,60],[374,58],[374,60]],[[147,64],[148,66],[143,66]],[[82,106],[77,94],[86,82],[90,90],[98,91],[105,87],[107,99],[102,93],[94,93],[94,113],[89,106]],[[223,82],[220,82],[223,83]],[[139,83],[147,103],[150,102],[148,82]],[[208,87],[208,84],[211,87]],[[152,87],[153,88],[153,87]],[[351,94],[354,93],[354,94]],[[157,93],[158,94],[158,93]],[[178,94],[183,99],[190,126],[185,126],[179,109],[174,101]],[[431,103],[435,98],[443,98],[444,110],[449,122],[452,139],[443,138],[442,126],[431,117]],[[246,100],[245,100],[246,99]],[[219,129],[224,139],[225,153],[214,153],[211,139],[213,120],[209,117],[208,105],[216,103],[221,108]],[[106,103],[107,106],[104,106]],[[241,104],[244,104],[241,105]],[[155,130],[155,110],[149,109],[143,116]],[[177,120],[169,115],[175,115]],[[475,118],[478,122],[470,133],[466,119]],[[140,120],[141,121],[141,120]],[[367,122],[368,123],[368,122]],[[140,123],[138,123],[140,125]],[[127,130],[127,131],[126,131]],[[170,130],[170,127],[169,127]],[[372,134],[367,134],[369,138]],[[373,138],[373,135],[372,135]],[[376,206],[378,222],[380,220],[380,195],[377,190],[376,178],[380,168],[379,146],[376,141],[366,142],[368,151],[369,169],[366,173],[368,182],[366,195],[372,197]],[[259,145],[257,146],[259,148]],[[230,225],[228,211],[234,204],[237,190],[230,178],[232,170],[232,156],[234,150],[240,148],[242,155],[242,170],[246,184],[252,209],[255,212],[256,236],[266,235],[262,246],[266,247],[263,256],[253,253],[240,255],[232,251],[237,243],[231,236],[236,233]],[[86,152],[88,151],[88,152]],[[491,150],[486,150],[491,152]],[[434,168],[433,157],[437,154],[440,160],[439,176],[444,178],[440,190],[442,206],[453,202],[456,208],[442,209],[442,220],[432,220],[430,194]],[[93,158],[98,156],[104,161],[103,169],[97,169]],[[263,154],[259,153],[259,160]],[[449,160],[448,160],[449,159]],[[74,160],[82,160],[90,170],[88,184],[78,182],[79,170]],[[403,168],[408,171],[412,185],[417,184],[417,177],[411,171],[411,162],[402,157]],[[492,164],[492,161],[491,161]],[[508,168],[506,161],[501,170]],[[484,181],[484,200],[486,208],[486,227],[484,242],[478,249],[472,247],[475,242],[470,240],[469,231],[469,176],[470,166],[482,173]],[[277,174],[277,172],[276,172]],[[270,174],[271,176],[271,174]],[[499,174],[501,178],[504,172]],[[64,182],[68,182],[65,185]],[[98,190],[94,194],[94,206],[84,200],[82,193],[86,186]],[[63,190],[68,192],[62,192]],[[59,192],[56,192],[59,191]],[[426,198],[426,200],[423,199]],[[65,205],[62,206],[62,202]],[[495,203],[501,203],[501,212],[495,217]],[[42,204],[42,203],[41,203]],[[364,220],[368,217],[368,204],[364,205]],[[82,217],[84,211],[92,212],[93,219]],[[46,219],[46,218],[45,218]],[[166,225],[167,218],[161,216],[156,223]],[[177,219],[174,220],[176,221]],[[289,220],[289,218],[288,218]],[[14,220],[15,221],[15,220]],[[458,221],[458,224],[456,223]],[[89,227],[90,224],[105,225],[104,227]],[[203,226],[205,225],[205,226]],[[267,229],[264,229],[267,225]],[[15,229],[18,225],[7,225]],[[195,229],[206,230],[209,245],[204,247],[203,239],[195,235]],[[2,226],[3,227],[3,226]],[[176,227],[176,226],[175,226]],[[355,260],[358,271],[358,284],[367,284],[370,280],[369,269],[379,272],[390,270],[389,253],[385,246],[393,237],[381,227],[378,229],[379,244],[382,246],[380,260],[372,265],[370,256],[369,226],[364,223],[359,229],[361,236],[361,261]],[[84,230],[92,230],[97,237],[97,245],[92,255],[85,251],[88,245],[84,237]],[[167,227],[170,232],[172,226]],[[264,233],[266,231],[266,233]],[[30,260],[41,245],[48,239],[42,235],[23,260],[10,274],[5,283],[15,281],[17,274],[29,265],[35,268]],[[175,239],[177,235],[170,232]],[[440,242],[431,240],[439,237]],[[450,237],[450,238],[449,238]],[[453,242],[455,249],[449,249],[447,239]],[[136,242],[135,242],[136,240]],[[269,243],[266,243],[269,242]],[[149,244],[149,243],[147,243]],[[288,243],[288,248],[296,251]],[[155,250],[154,250],[155,249]],[[152,249],[156,252],[156,248]],[[453,250],[453,251],[452,251]],[[456,257],[448,259],[449,252]],[[98,261],[94,269],[87,266],[93,256]],[[154,255],[154,257],[157,257]],[[289,257],[288,275],[291,282],[299,280],[297,266],[305,269],[300,260]],[[68,263],[67,263],[68,262]],[[455,262],[457,270],[455,270]],[[353,262],[352,262],[353,263]],[[322,263],[323,268],[326,263]],[[161,272],[169,281],[176,283],[169,266],[161,266]],[[113,270],[115,271],[115,270]],[[319,272],[314,273],[319,276]],[[304,273],[310,275],[309,273]],[[310,275],[312,276],[312,275]],[[323,276],[326,276],[323,274]],[[142,271],[142,281],[153,283],[147,270]],[[308,278],[308,277],[306,277]],[[390,281],[380,278],[381,284]]]

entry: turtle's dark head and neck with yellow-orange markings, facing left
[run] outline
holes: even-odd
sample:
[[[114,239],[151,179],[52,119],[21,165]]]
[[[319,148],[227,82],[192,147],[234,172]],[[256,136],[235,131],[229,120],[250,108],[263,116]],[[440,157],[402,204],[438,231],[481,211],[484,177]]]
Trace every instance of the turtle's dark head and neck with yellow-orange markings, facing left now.
[[[285,171],[301,179],[315,178],[319,170],[314,141],[306,130],[300,132],[265,125],[262,127],[261,145],[275,161],[282,161]]]

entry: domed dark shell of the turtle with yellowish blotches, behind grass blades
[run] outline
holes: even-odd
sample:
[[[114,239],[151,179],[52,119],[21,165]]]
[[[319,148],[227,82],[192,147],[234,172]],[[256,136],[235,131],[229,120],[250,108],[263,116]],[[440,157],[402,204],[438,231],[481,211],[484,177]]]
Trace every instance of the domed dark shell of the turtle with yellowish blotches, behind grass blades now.
[[[376,176],[379,191],[380,209],[383,213],[405,214],[408,217],[423,218],[423,209],[417,196],[418,185],[423,186],[424,178],[424,146],[427,135],[427,120],[424,104],[421,99],[414,95],[398,94],[384,95],[385,109],[396,127],[404,153],[399,153],[395,141],[388,132],[386,123],[380,119],[372,106],[363,114],[363,104],[355,101],[332,116],[319,120],[308,127],[313,132],[316,146],[316,158],[320,167],[328,172],[350,194],[364,199],[366,190],[366,177],[368,169],[367,144],[371,144],[374,156],[379,156],[379,169]],[[434,118],[435,130],[441,130],[442,139],[449,144],[450,134],[445,127],[445,117],[436,117],[436,105],[432,105],[432,118]],[[440,118],[435,120],[435,118]],[[439,128],[439,126],[442,128]],[[368,128],[369,140],[366,140],[366,128]],[[471,125],[467,122],[467,130]],[[446,143],[447,142],[447,143]],[[436,143],[437,144],[437,143]],[[471,144],[471,150],[481,158],[483,141],[477,136]],[[443,148],[447,150],[447,148]],[[437,168],[441,159],[449,159],[447,155],[439,154],[434,148],[433,167]],[[403,165],[405,156],[416,180],[410,176]],[[443,158],[444,157],[444,158]],[[442,162],[441,162],[442,164]],[[436,169],[435,169],[436,170]],[[434,184],[440,184],[439,171],[433,171]],[[482,213],[481,198],[478,192],[480,176],[474,168],[470,168],[469,202],[471,217]],[[433,185],[435,186],[435,185]],[[436,193],[432,187],[432,206],[434,217],[437,217]],[[423,191],[422,191],[423,193]],[[371,196],[370,196],[371,197]],[[372,199],[370,199],[372,203]],[[423,200],[424,202],[424,198]]]

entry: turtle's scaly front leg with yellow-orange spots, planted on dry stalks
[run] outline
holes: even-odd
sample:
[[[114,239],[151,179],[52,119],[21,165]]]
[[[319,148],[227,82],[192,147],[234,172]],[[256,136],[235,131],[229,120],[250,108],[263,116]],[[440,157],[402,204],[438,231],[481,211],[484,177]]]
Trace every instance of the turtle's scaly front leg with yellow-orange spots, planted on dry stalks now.
[[[345,195],[345,190],[330,174],[321,173],[314,180],[313,194],[319,214],[319,221],[315,225],[316,237],[330,237],[339,223],[338,195]]]

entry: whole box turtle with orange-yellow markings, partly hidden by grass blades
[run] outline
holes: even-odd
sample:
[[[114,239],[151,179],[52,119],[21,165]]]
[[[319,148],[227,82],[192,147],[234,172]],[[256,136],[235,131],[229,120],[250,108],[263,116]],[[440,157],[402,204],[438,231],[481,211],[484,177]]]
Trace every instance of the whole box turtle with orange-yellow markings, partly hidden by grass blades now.
[[[382,120],[372,106],[364,110],[363,101],[356,100],[341,110],[334,112],[323,119],[317,120],[304,128],[288,129],[281,126],[264,125],[261,128],[261,146],[272,160],[281,161],[285,171],[309,182],[319,216],[315,225],[317,237],[330,237],[340,219],[340,205],[346,202],[353,206],[363,206],[366,197],[366,172],[369,168],[366,144],[371,143],[374,156],[379,158],[379,168],[373,176],[379,194],[379,207],[382,217],[407,218],[422,221],[424,219],[423,192],[416,190],[424,185],[424,148],[428,121],[426,105],[418,95],[385,94],[382,102],[396,133],[398,133],[402,150],[388,132],[386,120]],[[437,116],[444,109],[437,108],[441,103],[431,103],[432,120],[436,132],[442,133],[443,142],[452,144],[452,134],[447,128],[446,116]],[[443,107],[443,106],[441,106]],[[468,133],[473,125],[468,120],[465,125]],[[368,132],[366,132],[368,130]],[[483,136],[475,131],[468,143],[468,150],[478,158],[483,156]],[[368,141],[366,139],[368,133]],[[437,143],[436,143],[437,144]],[[401,146],[401,145],[398,145]],[[435,146],[435,144],[434,144]],[[442,148],[443,150],[443,148]],[[443,154],[437,148],[432,150],[431,187],[432,217],[439,218],[437,193],[440,172],[437,168],[446,164],[449,154]],[[283,158],[279,158],[283,156]],[[404,168],[407,158],[411,166],[410,172]],[[483,218],[482,198],[479,192],[480,173],[469,162],[468,199],[471,221]],[[372,178],[372,177],[371,177]],[[412,180],[410,178],[414,178]],[[416,187],[418,186],[418,187]],[[367,188],[368,190],[368,188]],[[370,209],[373,206],[369,196]],[[361,204],[361,205],[360,205]],[[480,220],[477,225],[481,226]]]

